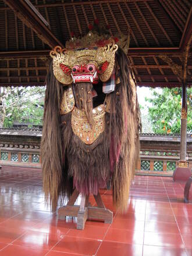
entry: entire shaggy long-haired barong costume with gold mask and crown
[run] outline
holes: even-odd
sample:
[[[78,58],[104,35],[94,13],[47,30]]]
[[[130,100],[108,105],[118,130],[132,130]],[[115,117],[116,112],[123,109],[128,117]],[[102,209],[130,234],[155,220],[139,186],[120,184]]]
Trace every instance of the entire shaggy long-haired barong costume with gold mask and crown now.
[[[128,48],[129,36],[89,31],[50,52],[41,151],[54,210],[74,188],[97,194],[109,179],[114,205],[127,207],[140,128]]]

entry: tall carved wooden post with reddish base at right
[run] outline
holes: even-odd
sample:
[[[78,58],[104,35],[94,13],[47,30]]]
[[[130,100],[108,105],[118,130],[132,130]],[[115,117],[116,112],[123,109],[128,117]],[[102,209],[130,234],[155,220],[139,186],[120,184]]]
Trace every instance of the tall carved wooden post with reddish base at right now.
[[[187,151],[187,58],[189,55],[190,43],[192,37],[187,44],[186,52],[183,55],[183,69],[182,69],[182,115],[181,115],[181,140],[180,140],[180,161],[173,173],[173,180],[179,181],[189,180],[191,176],[191,170],[189,168],[189,162],[186,159]]]

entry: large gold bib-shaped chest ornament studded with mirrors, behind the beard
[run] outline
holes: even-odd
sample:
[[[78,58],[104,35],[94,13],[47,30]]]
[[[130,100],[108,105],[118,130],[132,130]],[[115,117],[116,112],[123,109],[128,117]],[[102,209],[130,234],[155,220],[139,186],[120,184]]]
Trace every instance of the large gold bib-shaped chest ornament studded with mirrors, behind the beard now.
[[[103,104],[93,109],[94,125],[88,123],[84,111],[74,107],[72,111],[72,130],[87,145],[91,145],[105,130],[105,106]]]

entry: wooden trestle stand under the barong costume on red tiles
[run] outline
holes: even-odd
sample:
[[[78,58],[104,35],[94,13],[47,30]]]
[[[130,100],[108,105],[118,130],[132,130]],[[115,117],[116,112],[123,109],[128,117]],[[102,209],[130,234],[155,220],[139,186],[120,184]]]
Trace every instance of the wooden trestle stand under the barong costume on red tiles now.
[[[58,209],[59,219],[63,219],[66,216],[77,217],[77,229],[84,229],[87,219],[99,219],[105,223],[112,223],[113,212],[105,208],[99,193],[94,195],[97,207],[91,206],[88,202],[88,195],[81,195],[80,205],[74,205],[79,194],[79,191],[74,190],[67,205]]]

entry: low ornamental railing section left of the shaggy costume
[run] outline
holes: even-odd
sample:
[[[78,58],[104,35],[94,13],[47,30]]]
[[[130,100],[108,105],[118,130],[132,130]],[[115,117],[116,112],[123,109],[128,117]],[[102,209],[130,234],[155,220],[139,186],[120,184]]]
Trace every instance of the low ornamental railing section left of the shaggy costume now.
[[[41,129],[0,129],[0,164],[41,168]]]

